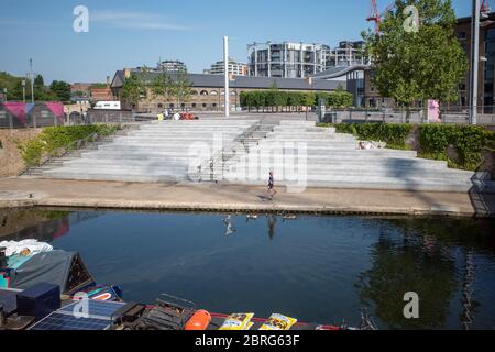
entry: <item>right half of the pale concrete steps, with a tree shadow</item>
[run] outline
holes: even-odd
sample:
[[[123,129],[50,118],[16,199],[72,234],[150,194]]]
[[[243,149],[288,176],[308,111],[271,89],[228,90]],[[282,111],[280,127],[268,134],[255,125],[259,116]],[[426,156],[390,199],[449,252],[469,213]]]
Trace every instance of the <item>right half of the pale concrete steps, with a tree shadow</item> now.
[[[315,122],[282,121],[240,160],[224,165],[223,180],[278,186],[428,191],[468,191],[474,173],[449,169],[446,162],[413,151],[359,150],[359,141]]]

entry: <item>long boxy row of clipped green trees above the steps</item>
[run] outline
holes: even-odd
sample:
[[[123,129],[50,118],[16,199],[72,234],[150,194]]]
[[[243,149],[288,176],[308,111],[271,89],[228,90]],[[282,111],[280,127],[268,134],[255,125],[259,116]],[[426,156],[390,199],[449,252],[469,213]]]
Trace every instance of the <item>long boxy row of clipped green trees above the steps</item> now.
[[[332,92],[315,91],[283,91],[278,89],[243,91],[240,96],[241,106],[251,109],[270,108],[288,109],[290,111],[300,109],[300,107],[315,107],[322,101],[327,107],[349,108],[353,105],[352,94],[339,88]]]

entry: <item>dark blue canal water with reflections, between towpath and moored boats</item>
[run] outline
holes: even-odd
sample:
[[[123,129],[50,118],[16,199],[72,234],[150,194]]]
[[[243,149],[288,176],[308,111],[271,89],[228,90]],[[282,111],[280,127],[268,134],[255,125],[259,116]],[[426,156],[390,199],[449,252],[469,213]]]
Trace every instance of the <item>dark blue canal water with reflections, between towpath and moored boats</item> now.
[[[78,251],[98,283],[216,312],[280,312],[381,329],[495,329],[493,220],[197,213],[0,212],[0,241]],[[404,295],[419,295],[419,319]]]

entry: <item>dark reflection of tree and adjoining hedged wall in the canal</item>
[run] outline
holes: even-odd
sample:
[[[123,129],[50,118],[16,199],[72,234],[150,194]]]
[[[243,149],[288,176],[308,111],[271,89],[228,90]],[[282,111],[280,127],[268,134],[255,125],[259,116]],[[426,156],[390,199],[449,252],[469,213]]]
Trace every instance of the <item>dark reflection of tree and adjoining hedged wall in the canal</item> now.
[[[392,329],[436,329],[446,326],[451,306],[458,304],[453,299],[460,287],[460,328],[470,329],[480,307],[473,292],[475,253],[476,249],[495,249],[493,222],[433,219],[381,222],[380,238],[371,250],[372,268],[363,272],[356,284],[363,304],[373,307],[376,317]],[[400,238],[391,233],[391,224],[402,229]],[[420,319],[404,318],[403,296],[408,292],[419,294]]]

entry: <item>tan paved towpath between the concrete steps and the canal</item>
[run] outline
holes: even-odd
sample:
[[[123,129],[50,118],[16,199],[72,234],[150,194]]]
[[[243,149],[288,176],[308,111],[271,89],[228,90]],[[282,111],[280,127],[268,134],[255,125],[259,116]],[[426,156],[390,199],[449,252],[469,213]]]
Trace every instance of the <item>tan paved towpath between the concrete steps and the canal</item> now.
[[[0,208],[75,207],[221,212],[493,216],[495,195],[308,188],[278,189],[211,184],[141,184],[42,178],[0,179]]]

